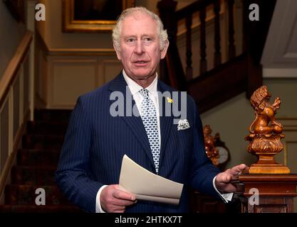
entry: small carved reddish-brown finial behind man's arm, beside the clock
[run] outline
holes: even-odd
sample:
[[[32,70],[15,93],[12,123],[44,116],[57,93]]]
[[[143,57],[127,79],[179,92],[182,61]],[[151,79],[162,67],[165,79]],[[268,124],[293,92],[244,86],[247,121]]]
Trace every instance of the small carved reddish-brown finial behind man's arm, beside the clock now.
[[[219,150],[217,150],[214,145],[214,137],[212,136],[212,129],[207,125],[203,128],[204,132],[204,143],[205,143],[205,151],[207,153],[207,157],[212,160],[214,165],[219,165]]]

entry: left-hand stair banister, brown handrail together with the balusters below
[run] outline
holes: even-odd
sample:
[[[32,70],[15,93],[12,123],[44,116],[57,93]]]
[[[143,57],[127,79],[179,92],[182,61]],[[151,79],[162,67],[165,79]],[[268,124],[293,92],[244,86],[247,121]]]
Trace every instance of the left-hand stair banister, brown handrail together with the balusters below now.
[[[3,157],[6,157],[6,159],[1,160],[4,165],[1,166],[0,172],[0,196],[3,194],[4,187],[7,182],[7,177],[9,176],[11,166],[13,165],[16,157],[16,150],[19,148],[22,135],[26,129],[26,121],[29,119],[30,116],[30,108],[28,108],[27,106],[26,109],[24,108],[24,98],[22,97],[24,97],[25,94],[24,75],[26,74],[31,76],[30,62],[32,55],[29,54],[29,49],[31,47],[32,40],[33,33],[31,31],[27,31],[24,35],[24,38],[21,40],[18,48],[16,49],[14,56],[11,58],[9,65],[6,67],[3,77],[1,77],[0,80],[0,110],[3,106],[5,106],[5,104],[8,104],[9,106],[7,108],[8,118],[5,119],[5,121],[7,121],[8,123],[7,130],[5,127],[4,129],[0,128],[0,139],[2,140],[3,138],[6,138],[8,142],[7,147],[4,145],[4,150],[0,149],[1,156],[2,154],[4,154]],[[21,70],[21,67],[26,64],[27,56],[29,64],[26,70],[28,70],[28,72],[24,72],[23,70]],[[14,82],[16,81],[16,79],[19,79],[19,88],[16,88],[14,86]],[[33,79],[31,77],[26,79],[33,82]],[[27,86],[29,85],[27,84]],[[19,96],[13,95],[14,89],[16,89],[17,91],[19,90]],[[28,91],[29,88],[26,87],[26,90]],[[13,108],[15,104],[19,106],[19,111],[16,111],[16,114],[14,114]],[[17,119],[15,119],[15,116],[17,116]],[[3,137],[4,133],[6,137]]]

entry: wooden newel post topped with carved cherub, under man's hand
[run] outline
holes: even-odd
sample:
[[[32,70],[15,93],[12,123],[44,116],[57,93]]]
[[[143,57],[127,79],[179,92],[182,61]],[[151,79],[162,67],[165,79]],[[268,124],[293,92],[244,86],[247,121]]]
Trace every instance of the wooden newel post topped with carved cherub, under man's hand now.
[[[293,212],[293,198],[297,196],[297,175],[290,174],[288,167],[274,161],[273,155],[283,150],[281,139],[284,138],[283,126],[276,121],[276,110],[281,99],[269,104],[271,94],[266,86],[257,89],[251,96],[251,106],[256,118],[249,127],[247,150],[256,155],[257,162],[249,167],[249,173],[239,175],[239,182],[244,183],[242,195],[243,212]]]

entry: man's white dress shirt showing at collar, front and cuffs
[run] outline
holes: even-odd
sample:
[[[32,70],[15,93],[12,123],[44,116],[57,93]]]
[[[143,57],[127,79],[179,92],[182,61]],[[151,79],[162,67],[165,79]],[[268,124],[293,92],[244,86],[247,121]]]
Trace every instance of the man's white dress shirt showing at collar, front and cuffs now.
[[[135,104],[137,106],[137,109],[139,112],[140,111],[140,104],[143,98],[143,96],[140,94],[140,90],[143,89],[143,87],[141,87],[139,84],[137,84],[134,80],[132,80],[130,77],[127,76],[125,70],[123,70],[123,76],[124,79],[127,83],[127,86],[130,89],[130,92],[132,94],[133,99],[135,100]],[[160,111],[159,111],[159,99],[158,99],[158,94],[157,94],[157,73],[156,73],[156,77],[153,80],[152,84],[150,84],[149,87],[146,87],[146,89],[149,91],[149,96],[150,99],[152,99],[153,103],[155,104],[155,109],[156,109],[156,113],[157,113],[157,125],[158,125],[158,133],[159,133],[159,141],[160,141],[160,148],[161,148],[161,133],[160,133]],[[217,187],[214,184],[214,180],[216,179],[216,177],[214,177],[213,179],[213,185],[214,185],[214,189],[216,189],[216,191],[218,192],[218,194],[222,197],[222,199],[225,202],[231,201],[231,198],[233,196],[233,193],[228,193],[228,194],[221,194],[218,190]],[[96,196],[96,213],[105,213],[105,211],[103,211],[101,204],[100,204],[100,194],[102,192],[102,190],[107,187],[107,185],[103,185],[103,187],[100,187],[97,196]]]

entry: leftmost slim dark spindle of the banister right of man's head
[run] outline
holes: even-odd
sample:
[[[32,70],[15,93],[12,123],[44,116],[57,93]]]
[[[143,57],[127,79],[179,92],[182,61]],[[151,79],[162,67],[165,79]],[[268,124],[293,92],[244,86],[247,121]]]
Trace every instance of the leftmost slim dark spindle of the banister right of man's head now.
[[[186,18],[186,27],[187,27],[187,50],[186,50],[186,57],[187,57],[187,79],[193,78],[193,68],[192,68],[192,14],[189,14]]]

